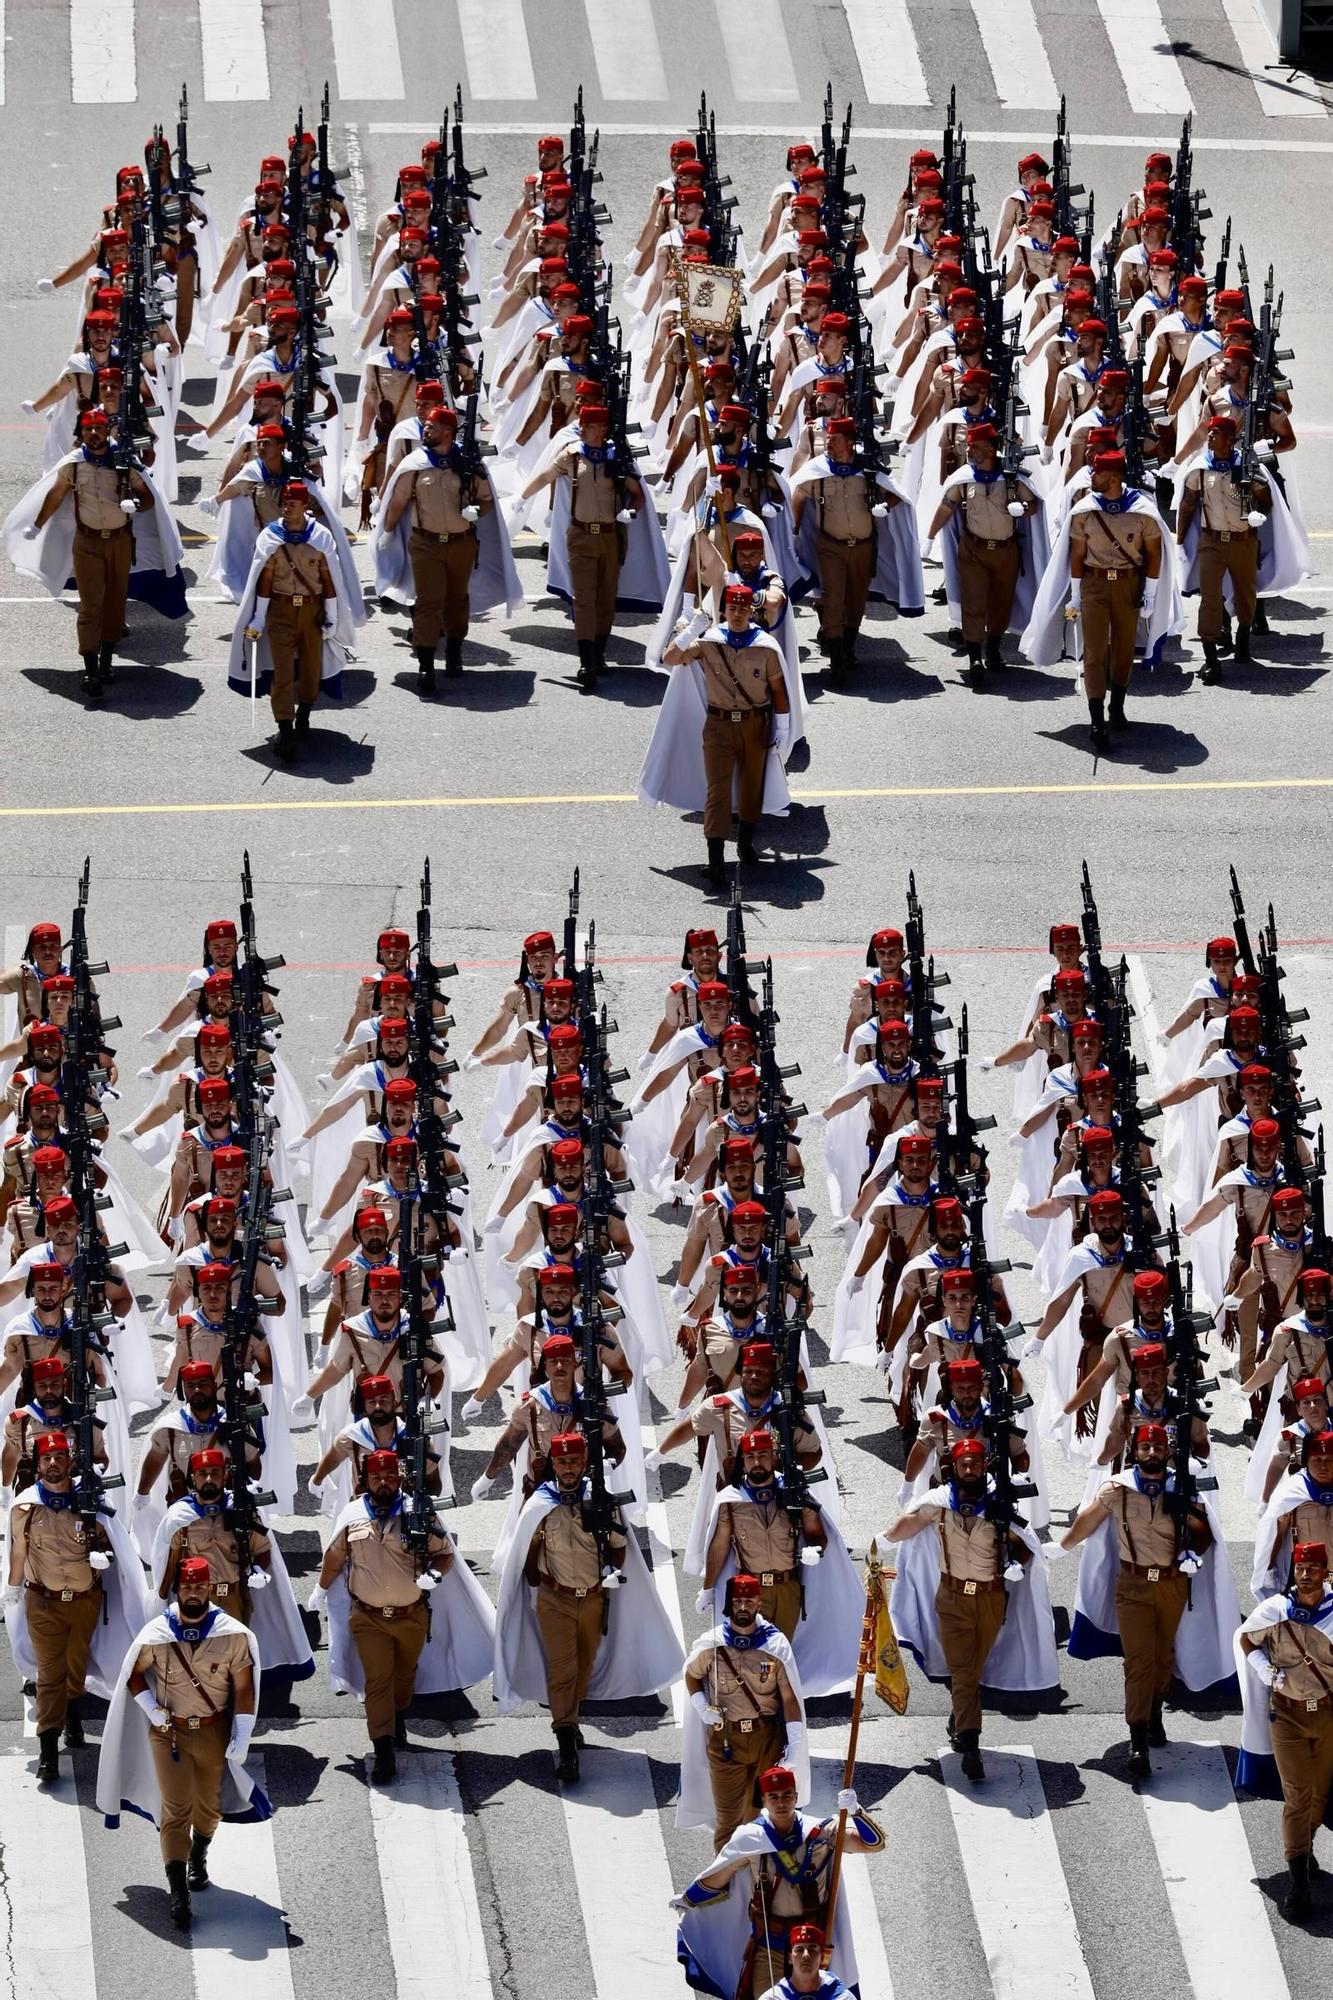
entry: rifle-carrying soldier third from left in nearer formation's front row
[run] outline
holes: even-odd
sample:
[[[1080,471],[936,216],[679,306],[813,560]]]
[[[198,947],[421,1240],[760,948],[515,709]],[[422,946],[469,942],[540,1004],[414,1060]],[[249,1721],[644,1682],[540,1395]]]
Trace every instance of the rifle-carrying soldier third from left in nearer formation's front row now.
[[[396,1776],[396,1748],[406,1748],[406,1710],[430,1630],[428,1594],[448,1574],[454,1544],[428,1530],[424,1560],[402,1536],[400,1466],[392,1450],[364,1460],[366,1490],[338,1518],[320,1564],[320,1588],[346,1570],[350,1634],[366,1676],[366,1732],[374,1748],[372,1784]]]

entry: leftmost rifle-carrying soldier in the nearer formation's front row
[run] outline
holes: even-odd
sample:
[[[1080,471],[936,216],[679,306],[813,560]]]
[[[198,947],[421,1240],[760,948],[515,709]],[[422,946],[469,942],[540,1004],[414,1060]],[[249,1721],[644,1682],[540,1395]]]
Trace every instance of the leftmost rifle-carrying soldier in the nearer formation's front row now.
[[[112,1550],[100,1522],[74,1508],[70,1440],[46,1430],[34,1442],[36,1484],[10,1506],[6,1598],[22,1588],[28,1638],[36,1654],[38,1784],[60,1776],[60,1730],[66,1750],[84,1742],[80,1702],[92,1634],[102,1616],[102,1570]]]

